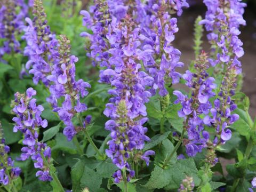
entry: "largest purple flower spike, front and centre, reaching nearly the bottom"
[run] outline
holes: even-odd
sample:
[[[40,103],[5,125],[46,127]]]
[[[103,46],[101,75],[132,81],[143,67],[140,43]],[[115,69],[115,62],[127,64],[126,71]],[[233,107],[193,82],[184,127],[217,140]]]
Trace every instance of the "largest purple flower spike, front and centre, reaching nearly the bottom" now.
[[[113,61],[111,69],[101,71],[101,79],[110,83],[113,89],[108,93],[113,95],[106,105],[104,114],[111,120],[106,122],[105,128],[111,131],[111,140],[106,154],[113,160],[119,169],[129,172],[127,181],[134,176],[129,161],[135,157],[135,161],[142,159],[149,164],[149,155],[154,151],[146,151],[142,154],[145,141],[150,139],[145,135],[147,128],[143,124],[147,122],[145,103],[151,97],[146,91],[146,86],[151,86],[153,78],[140,71],[138,62],[139,28],[134,27],[134,22],[129,15],[122,22],[114,21],[111,24],[113,33],[109,33],[108,41],[111,49],[108,50],[109,60]],[[118,61],[118,62],[114,62]],[[123,180],[121,171],[114,175],[115,182]]]

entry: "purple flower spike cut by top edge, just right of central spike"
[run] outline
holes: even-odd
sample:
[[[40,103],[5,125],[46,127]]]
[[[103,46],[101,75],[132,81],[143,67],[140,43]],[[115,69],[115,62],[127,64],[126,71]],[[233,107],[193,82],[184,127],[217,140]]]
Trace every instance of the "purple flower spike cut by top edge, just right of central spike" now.
[[[168,93],[165,88],[167,77],[171,78],[170,84],[179,83],[181,74],[176,68],[183,67],[179,61],[181,52],[172,46],[174,34],[179,29],[177,18],[172,18],[171,14],[181,15],[182,7],[188,7],[188,4],[173,0],[150,0],[145,5],[137,2],[137,22],[141,28],[139,38],[143,42],[138,54],[148,74],[154,78],[151,93],[155,94],[159,89],[159,94],[165,96]]]

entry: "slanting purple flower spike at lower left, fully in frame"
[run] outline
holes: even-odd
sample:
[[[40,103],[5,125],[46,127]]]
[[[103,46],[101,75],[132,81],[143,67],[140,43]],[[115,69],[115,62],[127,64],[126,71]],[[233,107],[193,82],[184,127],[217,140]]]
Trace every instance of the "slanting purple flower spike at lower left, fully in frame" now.
[[[13,132],[20,131],[24,135],[22,143],[25,147],[21,149],[21,160],[25,161],[31,157],[35,162],[35,168],[41,169],[36,172],[36,177],[42,181],[51,181],[52,177],[48,164],[51,159],[51,148],[38,141],[38,129],[40,126],[47,127],[47,120],[41,118],[44,108],[41,105],[36,105],[34,95],[36,95],[36,91],[31,87],[27,89],[26,94],[15,93],[13,112],[17,116],[13,117],[15,122]],[[47,164],[44,159],[46,159]]]

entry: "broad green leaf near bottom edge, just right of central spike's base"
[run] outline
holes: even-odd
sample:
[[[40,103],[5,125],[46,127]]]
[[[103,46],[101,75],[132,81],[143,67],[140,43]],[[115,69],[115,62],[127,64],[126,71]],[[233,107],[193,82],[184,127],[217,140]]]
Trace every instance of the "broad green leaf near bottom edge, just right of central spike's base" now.
[[[150,179],[146,183],[145,187],[149,189],[161,189],[168,185],[171,181],[172,173],[169,170],[163,170],[159,166],[155,166],[154,170],[151,172]]]

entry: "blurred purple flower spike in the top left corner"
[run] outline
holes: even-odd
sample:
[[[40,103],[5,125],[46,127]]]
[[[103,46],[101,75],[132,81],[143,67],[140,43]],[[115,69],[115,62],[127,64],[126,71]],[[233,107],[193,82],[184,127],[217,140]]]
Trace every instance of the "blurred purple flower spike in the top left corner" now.
[[[0,6],[0,38],[4,39],[0,47],[0,61],[4,61],[5,53],[21,51],[18,35],[24,27],[23,20],[27,14],[27,6],[22,0],[3,0]]]

